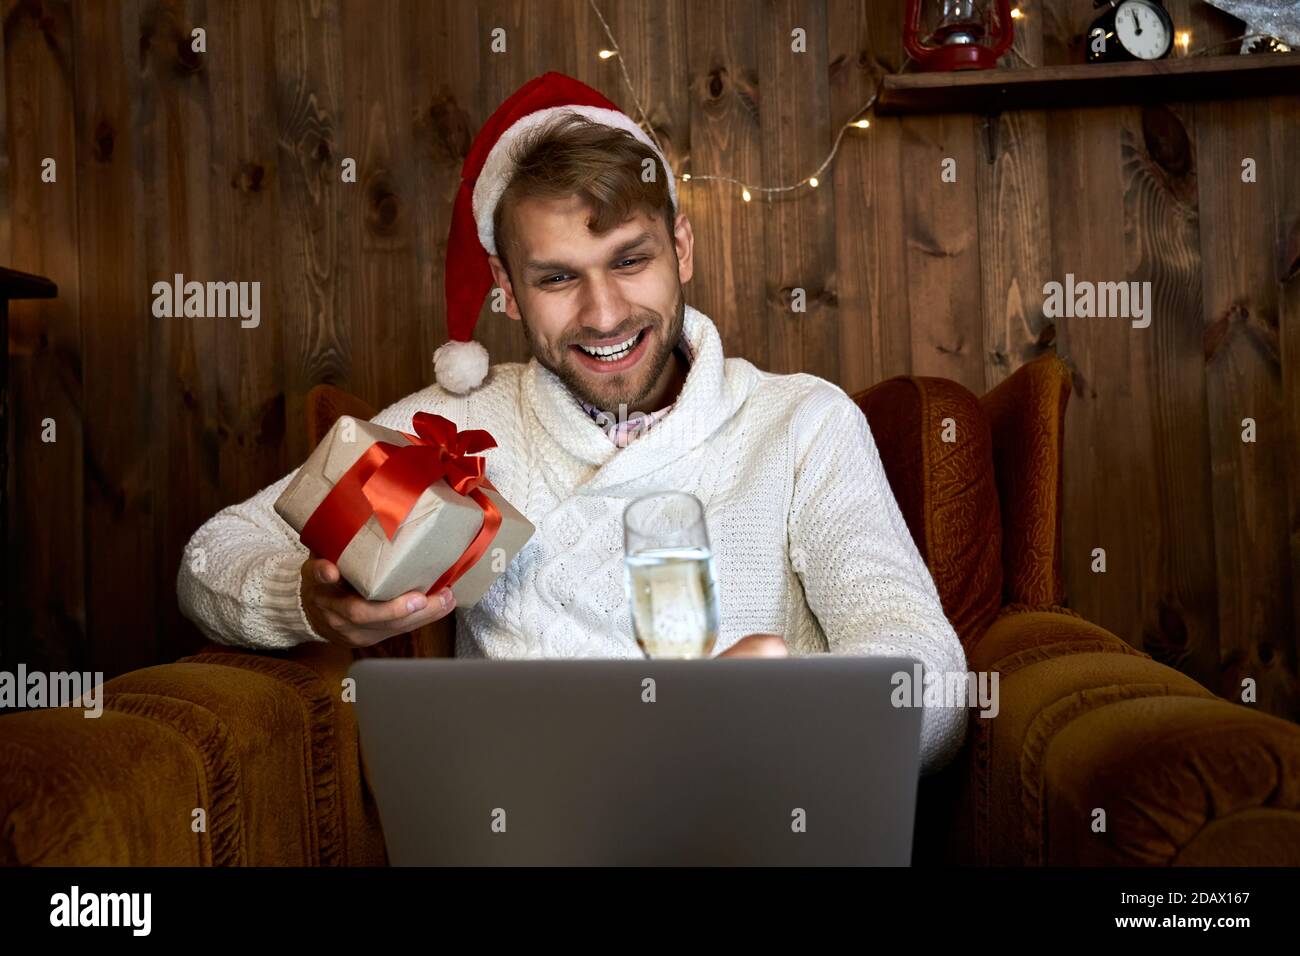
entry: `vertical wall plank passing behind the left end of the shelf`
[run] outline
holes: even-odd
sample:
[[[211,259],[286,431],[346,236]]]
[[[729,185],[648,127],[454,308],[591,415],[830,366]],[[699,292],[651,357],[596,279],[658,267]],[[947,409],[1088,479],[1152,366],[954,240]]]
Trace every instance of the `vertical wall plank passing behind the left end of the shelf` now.
[[[827,5],[832,131],[855,120],[880,73],[897,68],[901,8]],[[849,394],[911,368],[902,220],[900,120],[868,117],[840,143],[833,173],[838,385]]]

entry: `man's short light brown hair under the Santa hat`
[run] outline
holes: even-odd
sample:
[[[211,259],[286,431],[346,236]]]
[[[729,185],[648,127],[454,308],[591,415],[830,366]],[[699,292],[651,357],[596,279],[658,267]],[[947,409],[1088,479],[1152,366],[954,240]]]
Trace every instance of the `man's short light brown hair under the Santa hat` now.
[[[672,239],[673,209],[668,177],[658,155],[630,133],[592,122],[577,113],[525,133],[515,144],[515,176],[493,212],[497,254],[506,272],[507,207],[524,198],[564,199],[577,195],[592,209],[586,221],[593,233],[607,233],[636,211],[659,215]],[[646,181],[646,160],[654,174]]]

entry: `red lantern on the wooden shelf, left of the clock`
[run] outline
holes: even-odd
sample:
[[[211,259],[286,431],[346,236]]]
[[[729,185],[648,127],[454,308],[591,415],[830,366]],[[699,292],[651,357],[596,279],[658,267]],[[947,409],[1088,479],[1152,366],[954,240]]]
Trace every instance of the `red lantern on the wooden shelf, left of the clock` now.
[[[920,0],[907,0],[902,44],[923,70],[989,70],[1011,48],[1011,0],[997,0],[989,16],[989,0],[926,0],[937,7],[939,25],[920,39]]]

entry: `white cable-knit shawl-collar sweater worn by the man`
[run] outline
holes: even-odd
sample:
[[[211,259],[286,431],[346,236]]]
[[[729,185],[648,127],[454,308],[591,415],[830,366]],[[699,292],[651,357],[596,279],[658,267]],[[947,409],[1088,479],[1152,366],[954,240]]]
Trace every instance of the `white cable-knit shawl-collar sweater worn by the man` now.
[[[537,527],[473,607],[458,607],[458,657],[638,658],[623,583],[623,509],[679,489],[706,510],[722,609],[715,653],[749,633],[792,654],[919,659],[965,672],[933,580],[885,480],[866,418],[838,386],[724,358],[714,323],[686,307],[696,354],[664,416],[624,449],[536,359],[494,365],[468,395],[432,385],[374,421],[416,411],[486,428],[488,477]],[[287,648],[324,640],[303,611],[308,557],[272,509],[292,473],[221,510],[181,562],[181,609],[212,640]],[[926,708],[922,767],[961,747],[966,711]]]

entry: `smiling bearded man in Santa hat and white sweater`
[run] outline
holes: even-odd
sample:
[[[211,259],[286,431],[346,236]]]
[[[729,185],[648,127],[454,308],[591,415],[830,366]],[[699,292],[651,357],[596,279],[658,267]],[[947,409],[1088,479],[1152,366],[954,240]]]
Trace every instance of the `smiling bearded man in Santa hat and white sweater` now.
[[[724,358],[712,321],[685,303],[693,251],[662,153],[594,90],[546,74],[480,131],[448,241],[439,384],[374,419],[410,429],[428,411],[489,431],[488,477],[537,527],[460,609],[456,656],[640,657],[623,509],[677,489],[706,509],[723,656],[906,656],[965,672],[862,412],[815,376]],[[493,284],[533,359],[489,372],[471,338]],[[452,610],[447,589],[356,594],[272,510],[291,477],[187,545],[181,606],[209,637],[363,646]],[[927,708],[922,726],[933,770],[961,747],[966,713]]]

